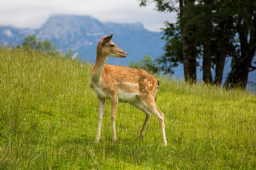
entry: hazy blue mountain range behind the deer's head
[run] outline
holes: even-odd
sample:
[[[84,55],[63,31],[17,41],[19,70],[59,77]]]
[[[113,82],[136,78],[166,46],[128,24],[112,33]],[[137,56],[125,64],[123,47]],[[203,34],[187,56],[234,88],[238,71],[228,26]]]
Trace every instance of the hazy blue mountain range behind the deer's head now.
[[[35,34],[40,40],[50,40],[61,50],[72,49],[80,59],[94,62],[98,40],[114,34],[112,41],[128,56],[125,59],[110,58],[113,64],[129,65],[131,60],[139,61],[146,54],[153,57],[163,53],[162,33],[148,31],[142,23],[102,23],[91,16],[53,15],[39,29],[19,29],[0,26],[0,44],[21,44],[28,34]]]

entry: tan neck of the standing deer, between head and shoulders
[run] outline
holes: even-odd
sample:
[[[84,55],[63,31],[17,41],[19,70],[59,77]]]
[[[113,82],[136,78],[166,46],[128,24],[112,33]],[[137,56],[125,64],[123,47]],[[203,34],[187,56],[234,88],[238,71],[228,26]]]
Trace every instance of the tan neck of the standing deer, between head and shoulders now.
[[[90,79],[92,82],[100,82],[101,74],[107,60],[108,56],[101,56],[97,53],[96,61],[94,63],[92,70],[90,71]]]

